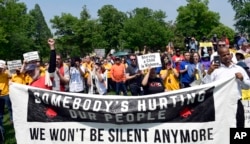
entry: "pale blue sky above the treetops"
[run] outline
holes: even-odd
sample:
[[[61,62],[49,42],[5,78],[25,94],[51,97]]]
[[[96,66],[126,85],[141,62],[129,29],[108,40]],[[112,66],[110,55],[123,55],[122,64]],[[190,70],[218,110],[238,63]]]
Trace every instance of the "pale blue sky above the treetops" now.
[[[166,21],[175,21],[178,7],[187,4],[186,0],[19,0],[19,2],[24,2],[28,11],[33,9],[35,4],[38,4],[49,27],[51,27],[50,19],[56,15],[61,16],[62,13],[70,13],[79,17],[84,5],[86,5],[92,19],[97,18],[98,9],[109,4],[122,12],[143,7],[162,10],[166,12]],[[209,0],[209,9],[220,14],[221,23],[234,29],[235,12],[228,0]]]

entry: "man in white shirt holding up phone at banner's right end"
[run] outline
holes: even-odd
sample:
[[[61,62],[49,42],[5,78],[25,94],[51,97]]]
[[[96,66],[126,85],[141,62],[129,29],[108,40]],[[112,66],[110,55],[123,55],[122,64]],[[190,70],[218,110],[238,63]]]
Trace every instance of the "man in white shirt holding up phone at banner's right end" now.
[[[203,78],[203,83],[210,83],[216,80],[220,80],[225,77],[235,76],[238,83],[238,90],[250,88],[250,79],[246,71],[232,63],[232,55],[229,48],[221,47],[218,49],[218,55],[220,56],[221,64],[213,63],[210,65],[207,75]],[[240,101],[241,95],[238,95],[238,109],[236,114],[237,127],[244,127],[244,108]],[[237,101],[235,102],[237,103]]]

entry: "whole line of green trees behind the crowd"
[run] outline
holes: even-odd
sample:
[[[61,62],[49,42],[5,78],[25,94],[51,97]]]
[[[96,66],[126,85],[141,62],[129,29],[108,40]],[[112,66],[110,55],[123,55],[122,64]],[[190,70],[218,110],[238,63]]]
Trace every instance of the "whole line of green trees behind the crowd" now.
[[[248,31],[249,1],[233,2],[237,10],[237,27]],[[169,42],[183,47],[185,36],[194,35],[198,40],[216,31],[231,38],[232,30],[221,27],[218,13],[208,9],[208,0],[187,0],[186,6],[178,8],[176,22],[165,22],[167,14],[161,10],[135,8],[121,12],[112,5],[104,5],[91,19],[86,5],[79,17],[69,13],[54,16],[50,22],[55,30],[57,52],[66,56],[84,56],[95,48],[142,50],[165,50]],[[219,28],[218,28],[219,27]],[[212,32],[211,32],[212,31]],[[52,33],[38,4],[29,13],[24,3],[18,0],[0,0],[0,57],[5,60],[22,59],[23,53],[37,50],[48,59],[47,39]]]

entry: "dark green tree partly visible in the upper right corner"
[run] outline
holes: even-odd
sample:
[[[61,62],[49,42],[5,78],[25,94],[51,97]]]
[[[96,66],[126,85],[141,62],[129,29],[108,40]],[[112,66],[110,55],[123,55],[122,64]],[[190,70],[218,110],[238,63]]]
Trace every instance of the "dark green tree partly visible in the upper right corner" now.
[[[241,32],[250,33],[250,0],[228,0],[235,10],[235,27]]]

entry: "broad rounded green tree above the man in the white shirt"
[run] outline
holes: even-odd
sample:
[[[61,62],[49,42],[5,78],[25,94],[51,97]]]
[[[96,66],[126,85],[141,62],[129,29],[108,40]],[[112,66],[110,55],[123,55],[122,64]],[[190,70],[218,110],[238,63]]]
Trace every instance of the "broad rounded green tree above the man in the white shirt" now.
[[[201,39],[220,24],[219,14],[209,11],[208,0],[187,0],[187,2],[186,6],[177,9],[176,27],[183,36],[195,36]]]

